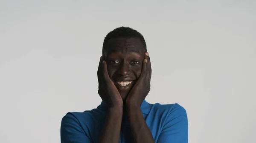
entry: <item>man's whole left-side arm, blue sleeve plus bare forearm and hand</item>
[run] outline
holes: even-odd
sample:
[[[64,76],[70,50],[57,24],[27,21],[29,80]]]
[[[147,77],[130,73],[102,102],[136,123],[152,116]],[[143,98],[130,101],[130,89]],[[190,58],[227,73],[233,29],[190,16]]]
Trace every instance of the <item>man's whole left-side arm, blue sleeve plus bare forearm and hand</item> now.
[[[102,129],[99,143],[119,143],[122,122],[122,98],[111,81],[107,64],[103,56],[98,69],[98,93],[108,106],[105,126]],[[72,113],[68,113],[61,121],[61,143],[92,143],[90,135],[81,128],[79,121]]]

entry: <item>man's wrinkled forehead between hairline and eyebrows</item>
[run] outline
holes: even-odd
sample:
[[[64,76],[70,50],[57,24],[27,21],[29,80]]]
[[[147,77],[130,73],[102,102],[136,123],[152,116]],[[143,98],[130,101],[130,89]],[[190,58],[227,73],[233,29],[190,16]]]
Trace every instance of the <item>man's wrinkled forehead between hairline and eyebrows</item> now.
[[[108,40],[107,44],[108,53],[121,52],[130,53],[136,52],[145,53],[145,46],[143,46],[140,38],[137,37],[118,37]]]

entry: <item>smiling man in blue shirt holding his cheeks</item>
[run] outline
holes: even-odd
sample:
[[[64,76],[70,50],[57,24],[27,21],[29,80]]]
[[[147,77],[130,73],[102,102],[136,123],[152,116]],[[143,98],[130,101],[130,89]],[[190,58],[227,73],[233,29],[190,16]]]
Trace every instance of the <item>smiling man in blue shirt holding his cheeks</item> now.
[[[187,143],[186,110],[179,104],[147,103],[150,79],[143,36],[127,27],[108,33],[98,69],[102,103],[90,111],[67,113],[61,143]]]

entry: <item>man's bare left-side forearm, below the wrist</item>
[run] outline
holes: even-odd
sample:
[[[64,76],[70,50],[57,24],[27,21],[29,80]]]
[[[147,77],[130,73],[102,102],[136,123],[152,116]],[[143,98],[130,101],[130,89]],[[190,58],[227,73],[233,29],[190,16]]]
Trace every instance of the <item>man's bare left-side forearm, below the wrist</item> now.
[[[99,143],[119,143],[121,123],[122,123],[122,107],[114,107],[108,109],[105,126]]]

